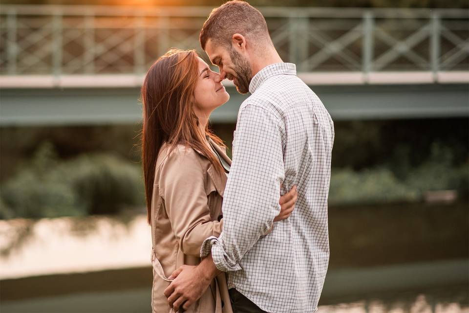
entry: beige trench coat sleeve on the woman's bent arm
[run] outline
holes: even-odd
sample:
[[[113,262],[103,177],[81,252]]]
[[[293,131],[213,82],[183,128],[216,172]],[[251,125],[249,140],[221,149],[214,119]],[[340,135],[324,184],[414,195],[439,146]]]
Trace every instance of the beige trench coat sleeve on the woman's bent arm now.
[[[205,173],[199,156],[190,148],[176,148],[160,173],[160,193],[181,250],[200,256],[207,237],[218,237],[223,222],[212,221],[205,191]]]

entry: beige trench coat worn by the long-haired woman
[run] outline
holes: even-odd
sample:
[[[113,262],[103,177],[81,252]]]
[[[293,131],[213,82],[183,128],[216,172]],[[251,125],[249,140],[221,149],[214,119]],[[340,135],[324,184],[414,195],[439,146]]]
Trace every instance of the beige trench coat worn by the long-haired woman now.
[[[214,146],[231,164],[225,148]],[[220,175],[199,151],[178,145],[168,155],[168,148],[164,144],[158,154],[151,203],[153,313],[174,312],[163,294],[171,283],[167,277],[181,265],[199,264],[203,241],[219,236],[223,225],[226,175]],[[232,313],[225,273],[213,279],[185,312]]]

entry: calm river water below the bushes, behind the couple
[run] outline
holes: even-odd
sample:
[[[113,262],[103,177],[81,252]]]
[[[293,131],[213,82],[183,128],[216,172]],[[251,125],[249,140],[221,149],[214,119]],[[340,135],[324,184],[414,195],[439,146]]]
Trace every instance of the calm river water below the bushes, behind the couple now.
[[[469,313],[467,206],[329,213],[319,313]],[[0,235],[2,313],[150,311],[145,215],[0,221]]]

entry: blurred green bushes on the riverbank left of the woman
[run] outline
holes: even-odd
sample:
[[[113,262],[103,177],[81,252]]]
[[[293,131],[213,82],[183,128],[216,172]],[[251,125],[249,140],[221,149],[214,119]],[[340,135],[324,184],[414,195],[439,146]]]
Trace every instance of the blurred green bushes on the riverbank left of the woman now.
[[[50,143],[1,188],[0,218],[116,213],[143,203],[136,165],[116,156],[90,155],[60,162]]]

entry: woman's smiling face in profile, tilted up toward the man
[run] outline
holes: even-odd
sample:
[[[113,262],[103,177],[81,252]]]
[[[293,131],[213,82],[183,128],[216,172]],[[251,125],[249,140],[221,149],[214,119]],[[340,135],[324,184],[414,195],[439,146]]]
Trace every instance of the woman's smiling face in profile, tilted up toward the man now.
[[[218,73],[210,70],[210,67],[201,58],[199,60],[199,77],[195,86],[195,112],[208,117],[213,110],[226,103],[230,95],[221,84]]]

